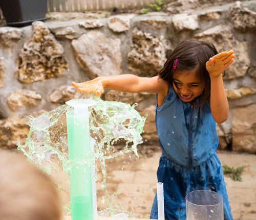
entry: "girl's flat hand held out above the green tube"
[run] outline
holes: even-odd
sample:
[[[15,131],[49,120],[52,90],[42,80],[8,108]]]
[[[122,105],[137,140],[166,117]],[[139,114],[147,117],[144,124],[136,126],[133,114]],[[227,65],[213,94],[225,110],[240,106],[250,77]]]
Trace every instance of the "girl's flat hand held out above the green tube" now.
[[[104,87],[108,82],[108,79],[96,78],[83,83],[72,82],[71,84],[76,87],[79,92],[95,93],[97,96],[100,96],[104,92]]]

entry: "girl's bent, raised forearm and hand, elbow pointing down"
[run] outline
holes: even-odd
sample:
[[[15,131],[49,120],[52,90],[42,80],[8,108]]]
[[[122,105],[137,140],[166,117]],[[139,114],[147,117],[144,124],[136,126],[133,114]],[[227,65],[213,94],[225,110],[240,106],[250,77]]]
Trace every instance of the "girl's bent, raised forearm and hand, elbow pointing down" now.
[[[234,52],[222,52],[211,57],[206,63],[211,81],[210,108],[212,117],[217,123],[228,118],[228,101],[222,80],[222,72],[234,61]]]

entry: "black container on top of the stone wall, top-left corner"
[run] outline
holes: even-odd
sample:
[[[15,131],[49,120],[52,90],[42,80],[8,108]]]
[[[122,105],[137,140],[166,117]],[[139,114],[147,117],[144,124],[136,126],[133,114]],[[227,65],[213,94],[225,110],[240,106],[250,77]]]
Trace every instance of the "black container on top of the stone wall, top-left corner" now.
[[[23,27],[46,19],[47,0],[0,0],[0,7],[8,26]]]

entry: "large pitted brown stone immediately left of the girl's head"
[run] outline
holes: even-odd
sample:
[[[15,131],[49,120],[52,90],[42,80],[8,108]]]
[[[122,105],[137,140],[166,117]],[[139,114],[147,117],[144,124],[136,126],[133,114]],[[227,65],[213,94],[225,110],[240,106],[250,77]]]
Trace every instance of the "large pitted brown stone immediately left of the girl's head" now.
[[[135,28],[127,55],[129,69],[139,76],[156,76],[166,61],[167,50],[170,43],[162,35],[153,36]]]

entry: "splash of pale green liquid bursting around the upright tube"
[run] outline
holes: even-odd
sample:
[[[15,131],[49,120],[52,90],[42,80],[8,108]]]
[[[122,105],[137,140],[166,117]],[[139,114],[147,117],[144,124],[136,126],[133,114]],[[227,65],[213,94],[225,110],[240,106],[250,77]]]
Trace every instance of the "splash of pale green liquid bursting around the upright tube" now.
[[[48,174],[55,167],[50,163],[42,167],[42,162],[46,160],[47,155],[50,158],[49,155],[55,154],[62,166],[63,173],[70,174],[70,187],[73,189],[71,190],[71,201],[80,196],[91,198],[91,195],[85,194],[88,191],[85,188],[87,187],[86,184],[91,184],[91,178],[89,177],[91,176],[91,166],[97,167],[95,161],[100,161],[100,169],[103,173],[102,189],[105,191],[105,201],[109,206],[110,214],[113,215],[115,208],[112,205],[112,199],[116,195],[109,195],[108,193],[108,174],[105,168],[105,160],[131,152],[134,152],[138,158],[137,145],[143,142],[141,133],[143,132],[146,115],[140,116],[139,112],[135,110],[135,105],[102,101],[98,96],[92,94],[82,93],[78,98],[97,101],[96,106],[89,108],[89,111],[92,112],[90,114],[89,128],[87,126],[79,128],[81,121],[76,119],[74,124],[78,126],[76,131],[73,134],[67,131],[69,130],[67,129],[67,123],[69,124],[69,121],[73,120],[71,116],[73,110],[68,105],[62,105],[38,117],[31,117],[30,131],[26,144],[21,145],[18,143],[18,150],[23,151],[28,160],[36,163]],[[90,144],[88,142],[90,138],[84,135],[83,131],[81,131],[82,129],[90,129],[90,137],[96,140],[95,152],[90,152]],[[75,130],[75,128],[72,130]],[[79,148],[73,149],[72,152],[68,148],[68,145],[70,145],[68,144],[68,136],[69,142],[79,139],[78,143],[73,143],[73,145],[78,144]],[[73,140],[70,140],[70,136]],[[117,143],[119,145],[116,145]],[[121,150],[117,150],[117,146],[120,149],[120,145],[122,145]],[[77,156],[79,156],[78,159],[74,160]],[[97,179],[98,171],[96,170],[95,179]],[[81,176],[79,172],[83,174],[81,179],[79,179]],[[76,176],[79,176],[78,180],[73,179]],[[72,185],[74,182],[75,184]],[[80,194],[80,192],[83,194]],[[69,209],[68,207],[69,204],[64,204],[63,209],[67,210]],[[78,211],[71,212],[71,215],[73,215],[73,212],[76,213]]]

